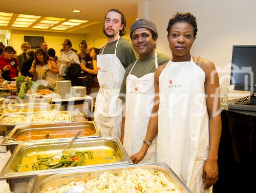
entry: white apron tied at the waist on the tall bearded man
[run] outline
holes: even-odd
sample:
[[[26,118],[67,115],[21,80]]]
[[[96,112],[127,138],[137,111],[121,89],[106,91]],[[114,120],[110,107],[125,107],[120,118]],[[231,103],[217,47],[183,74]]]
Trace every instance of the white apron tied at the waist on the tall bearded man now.
[[[120,38],[120,37],[119,37]],[[120,138],[123,102],[118,98],[125,69],[114,54],[97,55],[98,81],[100,85],[95,102],[94,120],[101,129],[103,137]]]

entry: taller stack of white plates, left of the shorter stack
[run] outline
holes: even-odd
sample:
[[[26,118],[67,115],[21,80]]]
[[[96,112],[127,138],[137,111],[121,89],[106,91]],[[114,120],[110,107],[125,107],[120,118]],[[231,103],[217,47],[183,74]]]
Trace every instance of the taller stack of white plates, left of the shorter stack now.
[[[71,97],[71,81],[70,80],[56,81],[56,97],[57,98]]]

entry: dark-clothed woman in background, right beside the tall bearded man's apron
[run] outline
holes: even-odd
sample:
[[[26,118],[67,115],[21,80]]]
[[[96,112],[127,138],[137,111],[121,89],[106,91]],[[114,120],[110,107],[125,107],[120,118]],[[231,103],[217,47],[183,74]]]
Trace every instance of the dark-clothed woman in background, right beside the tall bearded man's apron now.
[[[80,65],[81,70],[86,71],[86,80],[83,85],[87,89],[87,94],[90,94],[91,87],[93,84],[93,79],[97,76],[97,54],[99,54],[100,49],[91,47],[89,50],[90,57],[92,58],[92,63],[89,63],[87,66]]]

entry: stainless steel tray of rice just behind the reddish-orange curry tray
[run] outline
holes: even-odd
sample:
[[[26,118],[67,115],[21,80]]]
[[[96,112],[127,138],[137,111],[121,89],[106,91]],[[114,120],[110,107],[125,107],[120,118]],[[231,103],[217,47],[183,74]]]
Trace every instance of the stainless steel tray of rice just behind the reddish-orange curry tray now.
[[[60,111],[61,112],[61,111]],[[66,113],[69,114],[69,120],[67,121],[49,121],[48,123],[64,123],[64,122],[72,122],[72,114],[70,111],[65,111]],[[22,123],[1,123],[1,121],[3,120],[3,118],[5,117],[14,117],[17,115],[24,115],[25,117],[29,117],[33,114],[46,114],[49,112],[27,112],[27,113],[8,113],[8,114],[3,114],[0,116],[0,127],[12,127],[14,128],[16,125],[28,125],[28,124],[41,124],[41,123],[46,123],[46,122],[22,122]],[[56,113],[56,112],[52,112],[52,113]]]

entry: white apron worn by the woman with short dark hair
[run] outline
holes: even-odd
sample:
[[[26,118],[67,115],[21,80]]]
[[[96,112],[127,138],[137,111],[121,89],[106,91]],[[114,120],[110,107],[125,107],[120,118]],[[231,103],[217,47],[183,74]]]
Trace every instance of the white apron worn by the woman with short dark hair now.
[[[193,62],[169,61],[159,76],[157,162],[166,162],[192,192],[204,190],[209,149],[205,73]]]

